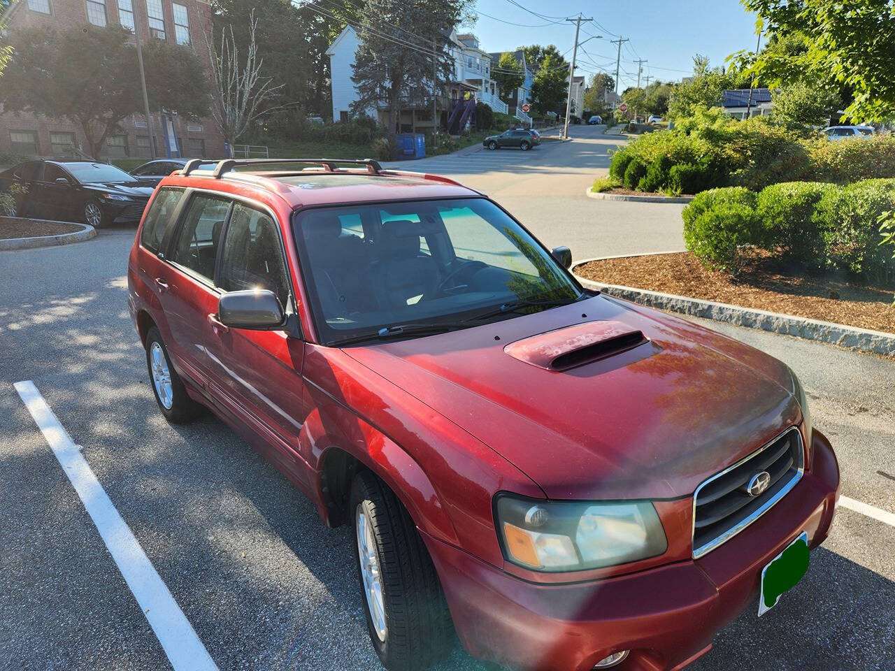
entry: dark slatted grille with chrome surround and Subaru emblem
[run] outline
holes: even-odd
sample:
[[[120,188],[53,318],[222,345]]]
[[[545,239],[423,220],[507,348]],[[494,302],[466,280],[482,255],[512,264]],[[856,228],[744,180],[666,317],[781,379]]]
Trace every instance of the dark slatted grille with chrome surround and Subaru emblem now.
[[[797,427],[791,427],[745,459],[705,480],[693,497],[694,558],[746,529],[786,496],[804,471],[802,435]],[[760,473],[768,476],[759,477]],[[757,485],[753,494],[748,491],[750,484]],[[763,485],[763,491],[755,494]]]

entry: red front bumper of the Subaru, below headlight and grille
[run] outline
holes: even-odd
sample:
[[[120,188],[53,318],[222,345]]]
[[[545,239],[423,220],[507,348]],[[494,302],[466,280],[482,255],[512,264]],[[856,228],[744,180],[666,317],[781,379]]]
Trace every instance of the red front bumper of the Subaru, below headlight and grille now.
[[[839,464],[814,431],[814,459],[796,488],[757,522],[698,560],[601,581],[525,582],[425,536],[456,632],[467,650],[526,671],[589,671],[631,650],[616,671],[685,667],[754,601],[763,566],[807,531],[816,548],[830,530]],[[810,572],[803,580],[811,580]],[[785,599],[785,597],[784,597]]]

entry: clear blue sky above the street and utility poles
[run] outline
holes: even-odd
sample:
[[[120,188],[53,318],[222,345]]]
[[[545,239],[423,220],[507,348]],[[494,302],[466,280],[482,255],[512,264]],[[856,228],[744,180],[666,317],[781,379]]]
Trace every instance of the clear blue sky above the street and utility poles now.
[[[534,14],[513,4],[514,1]],[[630,38],[622,45],[619,91],[636,85],[639,58],[646,59],[641,81],[644,85],[646,76],[651,76],[651,81],[679,81],[686,77],[693,71],[695,54],[709,56],[712,65],[723,65],[728,55],[755,48],[756,17],[738,0],[478,0],[476,11],[479,19],[472,32],[485,51],[555,44],[560,52],[568,50],[567,60],[572,57],[575,23],[563,18],[576,17],[578,13],[592,18],[599,25],[582,22],[579,42],[592,36],[602,38],[590,39],[579,48],[575,68],[575,74],[588,77],[600,70],[614,76],[618,45],[609,40]]]

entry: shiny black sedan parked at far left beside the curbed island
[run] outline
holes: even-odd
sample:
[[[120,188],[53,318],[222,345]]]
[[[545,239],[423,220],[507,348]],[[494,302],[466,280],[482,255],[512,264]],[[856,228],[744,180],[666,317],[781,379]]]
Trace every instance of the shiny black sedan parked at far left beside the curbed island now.
[[[19,183],[20,217],[80,221],[97,227],[138,222],[152,188],[115,166],[95,161],[27,161],[0,173],[0,190]]]

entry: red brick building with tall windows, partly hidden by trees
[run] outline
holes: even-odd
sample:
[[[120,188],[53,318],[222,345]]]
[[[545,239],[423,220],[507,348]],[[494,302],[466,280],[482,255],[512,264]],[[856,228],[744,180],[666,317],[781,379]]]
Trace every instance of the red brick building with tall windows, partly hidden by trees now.
[[[205,31],[211,26],[208,0],[13,0],[5,10],[0,0],[0,12],[7,30],[12,33],[25,26],[66,30],[85,23],[96,26],[120,23],[133,29],[136,22],[144,44],[149,39],[165,39],[190,46],[196,58],[210,67],[205,37]],[[140,75],[134,72],[133,76]],[[224,139],[210,119],[190,122],[177,116],[168,118],[183,157],[224,156]],[[156,156],[166,157],[163,119],[160,115],[151,115],[151,123]],[[121,126],[122,132],[107,138],[106,151],[101,157],[149,158],[146,118],[132,115]],[[0,113],[0,152],[49,157],[71,155],[72,149],[86,152],[88,148],[81,128],[65,119]]]

